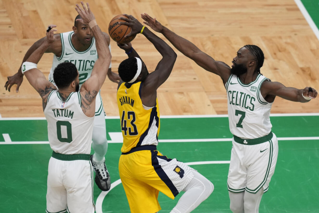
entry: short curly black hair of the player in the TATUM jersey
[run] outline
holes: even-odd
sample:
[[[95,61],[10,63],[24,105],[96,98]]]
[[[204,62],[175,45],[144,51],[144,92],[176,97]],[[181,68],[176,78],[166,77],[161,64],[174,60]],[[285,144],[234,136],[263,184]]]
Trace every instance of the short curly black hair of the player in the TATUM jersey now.
[[[68,87],[77,76],[78,70],[71,62],[60,63],[53,71],[53,80],[59,89]]]

